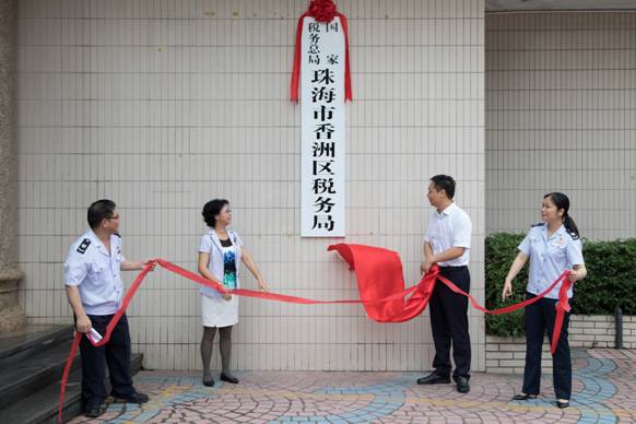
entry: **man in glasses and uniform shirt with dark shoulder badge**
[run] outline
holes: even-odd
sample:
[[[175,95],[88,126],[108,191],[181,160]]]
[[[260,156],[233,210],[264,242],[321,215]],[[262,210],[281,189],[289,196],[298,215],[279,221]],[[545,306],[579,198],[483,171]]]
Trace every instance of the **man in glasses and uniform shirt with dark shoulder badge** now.
[[[73,243],[64,262],[67,297],[73,308],[75,329],[101,335],[121,307],[123,283],[121,271],[140,270],[150,261],[131,262],[121,254],[119,212],[111,200],[97,200],[89,208],[91,229]],[[83,337],[82,409],[86,416],[97,417],[104,410],[105,365],[110,372],[110,394],[116,402],[144,403],[148,396],[132,387],[130,376],[130,331],[126,314],[115,326],[110,340],[95,348]]]

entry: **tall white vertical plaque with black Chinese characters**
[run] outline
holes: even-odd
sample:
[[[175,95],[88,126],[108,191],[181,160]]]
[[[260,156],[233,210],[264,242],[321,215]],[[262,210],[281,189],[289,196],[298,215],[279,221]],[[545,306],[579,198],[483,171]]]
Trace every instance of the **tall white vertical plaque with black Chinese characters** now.
[[[344,33],[340,17],[303,23],[301,56],[303,237],[344,237]]]

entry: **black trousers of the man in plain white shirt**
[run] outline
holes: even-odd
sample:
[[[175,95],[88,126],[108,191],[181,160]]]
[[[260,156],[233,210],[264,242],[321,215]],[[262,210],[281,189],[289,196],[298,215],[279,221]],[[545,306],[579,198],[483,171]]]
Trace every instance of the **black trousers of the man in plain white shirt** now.
[[[459,288],[470,292],[468,267],[439,267],[439,274]],[[450,376],[450,345],[455,372],[452,378],[470,378],[470,335],[468,333],[468,297],[454,293],[444,283],[436,282],[431,301],[431,330],[435,342],[433,367],[440,376]]]

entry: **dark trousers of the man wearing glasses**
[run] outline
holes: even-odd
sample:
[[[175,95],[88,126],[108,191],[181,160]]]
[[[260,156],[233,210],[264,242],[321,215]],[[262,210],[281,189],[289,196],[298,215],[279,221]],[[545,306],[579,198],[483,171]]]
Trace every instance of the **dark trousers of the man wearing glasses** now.
[[[106,334],[106,326],[113,315],[89,315],[93,328],[102,335]],[[82,404],[84,409],[98,407],[106,400],[105,365],[108,365],[110,386],[116,398],[131,398],[136,394],[130,377],[130,330],[126,314],[121,317],[110,341],[101,348],[91,344],[83,337],[80,342],[82,354]]]

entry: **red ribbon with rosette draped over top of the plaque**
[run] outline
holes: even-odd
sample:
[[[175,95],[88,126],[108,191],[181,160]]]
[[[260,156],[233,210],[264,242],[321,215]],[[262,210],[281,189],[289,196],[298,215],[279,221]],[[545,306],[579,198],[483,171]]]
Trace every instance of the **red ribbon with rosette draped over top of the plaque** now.
[[[298,102],[298,79],[301,76],[301,44],[303,43],[303,21],[313,16],[317,22],[331,22],[335,16],[340,17],[344,32],[344,101],[352,101],[351,67],[349,66],[349,25],[346,16],[338,12],[331,0],[311,0],[309,9],[301,15],[296,25],[296,45],[294,48],[294,70],[292,71],[291,101]]]

